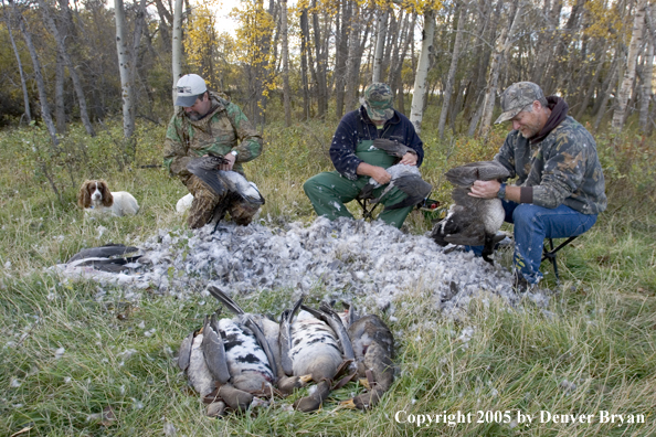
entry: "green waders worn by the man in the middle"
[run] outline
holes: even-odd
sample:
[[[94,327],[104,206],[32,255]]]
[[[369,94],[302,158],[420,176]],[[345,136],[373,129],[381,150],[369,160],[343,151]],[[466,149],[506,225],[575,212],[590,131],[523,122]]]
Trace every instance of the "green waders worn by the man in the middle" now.
[[[356,156],[371,166],[382,167],[383,169],[391,167],[396,158],[390,157],[383,150],[373,148],[372,145],[372,140],[361,141],[356,148]],[[353,215],[347,210],[345,203],[356,199],[369,180],[369,177],[361,175],[357,181],[351,181],[341,177],[337,171],[326,171],[308,179],[303,189],[313,203],[317,215],[325,215],[330,220],[337,217],[352,218]],[[378,198],[387,186],[382,185],[373,190],[373,196]],[[385,206],[393,205],[406,196],[408,194],[393,188],[384,195],[381,203]],[[378,217],[389,225],[401,227],[412,209],[413,206],[406,206],[385,211]]]

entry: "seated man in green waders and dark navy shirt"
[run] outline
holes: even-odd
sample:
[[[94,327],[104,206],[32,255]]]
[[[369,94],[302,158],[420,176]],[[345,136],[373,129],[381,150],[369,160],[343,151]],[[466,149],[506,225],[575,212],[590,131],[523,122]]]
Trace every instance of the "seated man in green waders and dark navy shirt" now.
[[[330,159],[337,171],[319,173],[303,185],[317,215],[330,220],[352,218],[345,203],[356,199],[370,178],[381,184],[373,190],[373,196],[378,198],[392,179],[387,168],[396,163],[421,166],[424,158],[422,140],[412,122],[392,108],[392,90],[387,84],[371,84],[364,89],[360,108],[345,115],[339,122],[330,145]],[[391,157],[373,147],[373,140],[378,138],[408,146],[412,151],[402,158]],[[392,188],[381,203],[393,205],[406,196],[404,192]],[[379,218],[401,227],[413,207],[383,211]]]

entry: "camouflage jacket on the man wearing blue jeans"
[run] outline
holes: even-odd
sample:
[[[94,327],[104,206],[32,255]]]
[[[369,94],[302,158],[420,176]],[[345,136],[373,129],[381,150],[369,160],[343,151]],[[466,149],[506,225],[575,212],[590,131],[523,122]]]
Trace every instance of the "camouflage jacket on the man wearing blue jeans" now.
[[[516,185],[533,188],[533,204],[570,206],[583,214],[606,209],[604,173],[592,135],[568,116],[540,142],[531,145],[514,130],[495,157],[517,177]]]

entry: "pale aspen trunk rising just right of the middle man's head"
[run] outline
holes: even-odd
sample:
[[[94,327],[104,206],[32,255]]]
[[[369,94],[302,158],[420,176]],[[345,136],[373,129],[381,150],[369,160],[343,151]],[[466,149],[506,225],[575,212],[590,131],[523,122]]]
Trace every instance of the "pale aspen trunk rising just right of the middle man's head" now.
[[[433,38],[435,36],[435,12],[431,9],[424,12],[424,31],[422,32],[422,47],[414,76],[412,104],[410,107],[410,121],[414,125],[416,134],[421,134],[422,119],[424,118],[424,102],[426,100],[426,77],[428,76],[428,54],[434,51]]]

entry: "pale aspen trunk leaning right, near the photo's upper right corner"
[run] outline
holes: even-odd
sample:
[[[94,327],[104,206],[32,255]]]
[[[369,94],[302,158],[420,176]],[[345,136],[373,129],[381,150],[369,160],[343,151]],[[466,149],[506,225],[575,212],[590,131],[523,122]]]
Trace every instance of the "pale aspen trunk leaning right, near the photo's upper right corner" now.
[[[628,54],[626,55],[626,70],[624,71],[624,78],[617,92],[615,111],[613,113],[613,121],[611,124],[614,131],[620,132],[624,125],[624,114],[626,111],[626,103],[631,86],[635,78],[635,68],[637,65],[638,49],[643,42],[643,33],[645,29],[645,9],[647,0],[638,0],[635,10],[635,19],[633,21],[633,32],[631,35],[631,44],[628,45]]]

